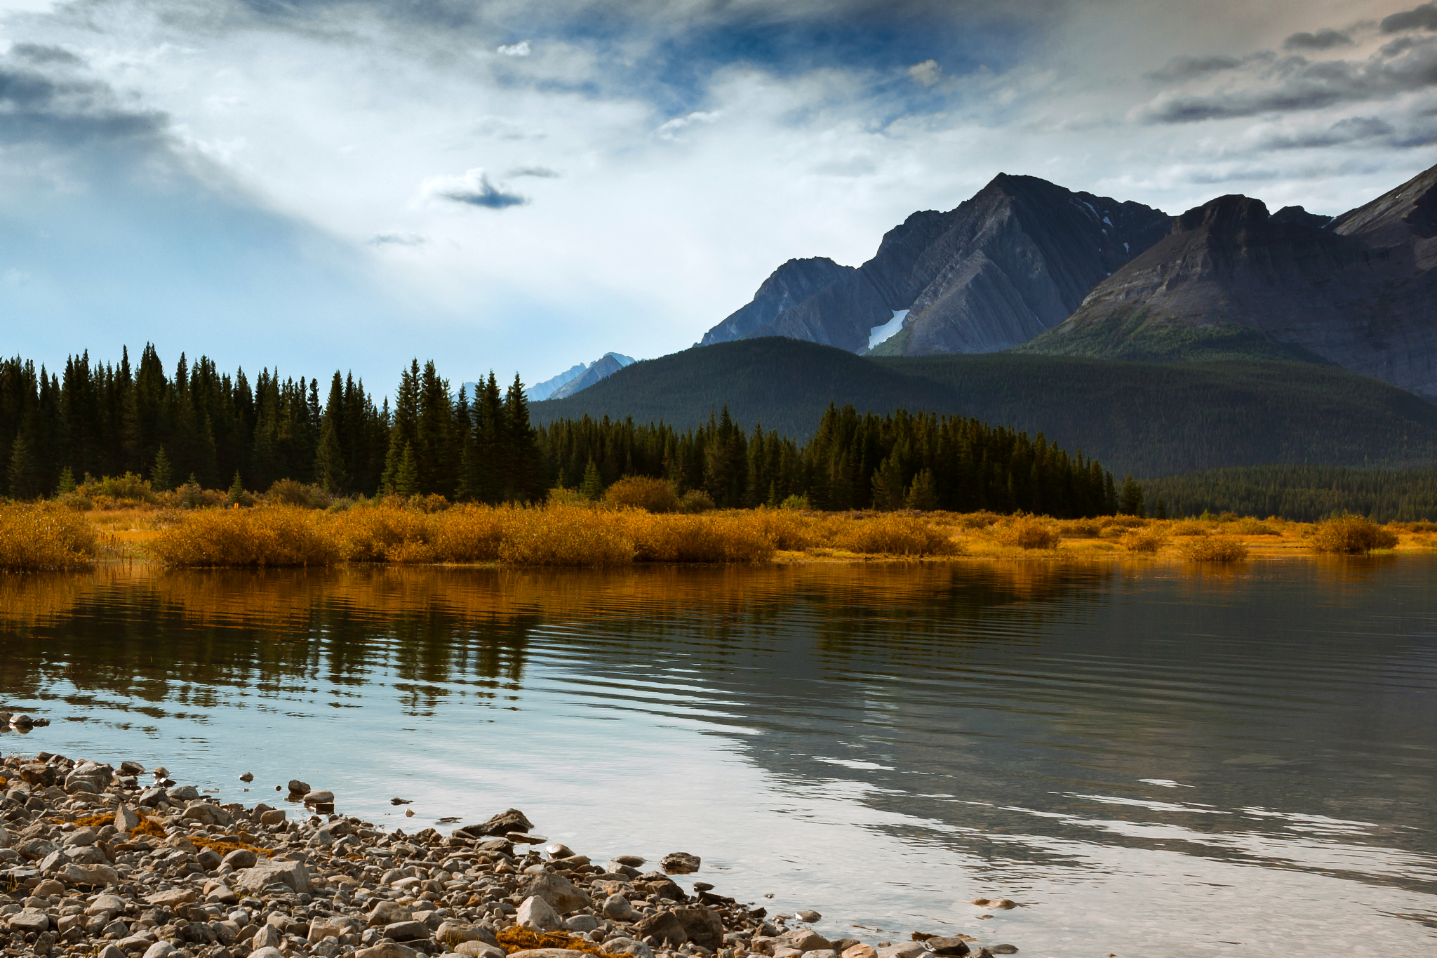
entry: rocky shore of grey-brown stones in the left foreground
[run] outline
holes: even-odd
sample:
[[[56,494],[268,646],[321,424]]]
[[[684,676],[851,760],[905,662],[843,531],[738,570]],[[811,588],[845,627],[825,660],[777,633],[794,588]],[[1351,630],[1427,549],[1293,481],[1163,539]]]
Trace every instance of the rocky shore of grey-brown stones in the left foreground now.
[[[249,781],[249,777],[244,777]],[[451,834],[335,813],[220,803],[164,768],[40,753],[0,764],[4,955],[98,958],[925,958],[1013,954],[970,936],[831,941],[816,912],[767,915],[673,875],[675,852],[595,863],[510,809]],[[398,800],[397,800],[398,801]],[[1012,908],[1006,899],[987,903]]]

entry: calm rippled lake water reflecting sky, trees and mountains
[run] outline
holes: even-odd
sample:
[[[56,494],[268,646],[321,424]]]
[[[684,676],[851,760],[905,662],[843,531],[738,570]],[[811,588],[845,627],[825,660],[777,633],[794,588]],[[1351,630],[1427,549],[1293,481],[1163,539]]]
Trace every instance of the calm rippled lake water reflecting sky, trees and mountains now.
[[[832,936],[1430,955],[1434,585],[1423,559],[0,577],[0,702],[55,720],[0,750],[247,801],[297,776],[405,827],[516,806],[593,857],[701,855]]]

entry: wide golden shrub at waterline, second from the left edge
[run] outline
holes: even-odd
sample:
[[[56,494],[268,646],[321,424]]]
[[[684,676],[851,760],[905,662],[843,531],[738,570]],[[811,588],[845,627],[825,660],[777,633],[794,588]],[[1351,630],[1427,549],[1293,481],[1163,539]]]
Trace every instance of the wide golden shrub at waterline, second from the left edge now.
[[[320,516],[297,506],[195,510],[161,529],[147,552],[171,566],[323,566],[342,552]]]

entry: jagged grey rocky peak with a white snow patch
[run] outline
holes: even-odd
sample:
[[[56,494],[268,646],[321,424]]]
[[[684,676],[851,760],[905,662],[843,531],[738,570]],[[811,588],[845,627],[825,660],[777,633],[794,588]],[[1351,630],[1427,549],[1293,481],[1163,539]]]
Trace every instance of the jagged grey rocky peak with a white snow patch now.
[[[1160,240],[1170,223],[1165,213],[1137,203],[999,174],[956,210],[914,213],[856,270],[822,260],[846,271],[800,271],[795,264],[819,260],[790,260],[704,343],[786,336],[862,352],[874,327],[908,310],[902,330],[875,352],[1006,349],[1062,322],[1094,284]],[[793,279],[780,280],[790,267]]]

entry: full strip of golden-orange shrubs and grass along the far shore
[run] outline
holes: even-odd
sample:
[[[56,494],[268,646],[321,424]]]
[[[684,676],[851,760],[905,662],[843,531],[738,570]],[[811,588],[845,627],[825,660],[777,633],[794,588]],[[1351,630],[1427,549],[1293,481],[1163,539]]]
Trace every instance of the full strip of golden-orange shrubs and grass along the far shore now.
[[[605,567],[635,563],[805,563],[1036,557],[1236,563],[1249,557],[1437,550],[1437,523],[1319,523],[1233,514],[1053,518],[990,511],[819,511],[790,506],[688,507],[644,480],[601,501],[555,490],[542,506],[450,504],[437,497],[318,508],[264,497],[250,506],[0,504],[0,569],[98,562],[167,567],[499,564]],[[655,501],[657,500],[657,501]],[[645,507],[645,504],[648,507]]]

